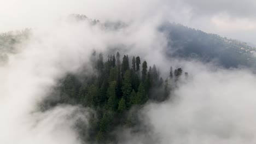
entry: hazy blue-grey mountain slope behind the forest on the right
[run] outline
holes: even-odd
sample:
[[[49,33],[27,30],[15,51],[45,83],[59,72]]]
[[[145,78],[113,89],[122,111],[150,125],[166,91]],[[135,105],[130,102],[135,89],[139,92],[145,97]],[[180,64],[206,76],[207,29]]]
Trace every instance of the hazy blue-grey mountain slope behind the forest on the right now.
[[[160,31],[168,39],[168,56],[197,58],[204,62],[217,60],[226,68],[255,65],[255,48],[238,40],[222,38],[217,34],[208,34],[175,23],[165,23]]]

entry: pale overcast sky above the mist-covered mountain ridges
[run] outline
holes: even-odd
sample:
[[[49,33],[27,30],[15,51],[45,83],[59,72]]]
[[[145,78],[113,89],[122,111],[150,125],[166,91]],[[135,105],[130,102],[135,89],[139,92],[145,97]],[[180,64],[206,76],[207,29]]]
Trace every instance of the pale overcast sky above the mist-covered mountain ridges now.
[[[68,14],[99,20],[171,22],[256,44],[254,0],[0,0],[0,32],[48,25]]]

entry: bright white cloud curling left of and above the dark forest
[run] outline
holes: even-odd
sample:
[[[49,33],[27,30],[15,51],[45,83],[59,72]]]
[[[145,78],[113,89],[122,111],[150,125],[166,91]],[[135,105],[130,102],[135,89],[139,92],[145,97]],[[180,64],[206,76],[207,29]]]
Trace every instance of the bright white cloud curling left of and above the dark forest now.
[[[104,53],[123,44],[121,55],[141,53],[159,58],[156,63],[164,61],[161,49],[155,49],[166,44],[156,19],[133,21],[119,31],[69,19],[32,28],[30,39],[17,45],[20,51],[9,54],[9,61],[0,67],[0,143],[80,143],[74,125],[79,119],[86,124],[90,110],[63,105],[40,112],[38,104],[66,73],[83,67],[84,73],[92,73],[94,50]]]

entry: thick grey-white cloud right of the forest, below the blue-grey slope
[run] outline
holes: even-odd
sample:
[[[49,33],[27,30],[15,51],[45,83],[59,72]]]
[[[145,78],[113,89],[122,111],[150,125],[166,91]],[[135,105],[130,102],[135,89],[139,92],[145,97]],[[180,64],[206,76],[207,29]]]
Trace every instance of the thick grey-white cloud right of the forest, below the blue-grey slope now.
[[[144,107],[142,123],[151,130],[152,143],[255,143],[255,75],[212,66],[186,66],[193,74],[171,100]],[[131,139],[126,143],[149,140],[129,130],[124,134]]]

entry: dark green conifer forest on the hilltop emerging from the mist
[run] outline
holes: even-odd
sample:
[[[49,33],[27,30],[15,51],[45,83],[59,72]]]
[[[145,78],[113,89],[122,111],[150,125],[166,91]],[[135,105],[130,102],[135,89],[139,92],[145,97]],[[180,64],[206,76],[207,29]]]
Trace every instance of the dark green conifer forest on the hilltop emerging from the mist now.
[[[128,55],[120,57],[120,53],[109,55],[104,61],[102,53],[92,61],[95,73],[83,78],[77,74],[67,74],[59,81],[55,93],[42,104],[42,110],[48,110],[60,104],[80,105],[90,107],[95,112],[90,117],[89,125],[77,123],[80,138],[91,143],[115,142],[117,137],[112,133],[118,127],[133,128],[140,131],[137,111],[147,101],[161,103],[170,97],[173,88],[183,74],[181,68],[170,68],[166,79],[160,77],[156,65],[152,67],[147,61],[141,61],[139,56]],[[143,129],[145,130],[145,129]]]

